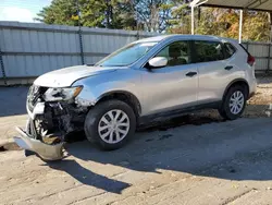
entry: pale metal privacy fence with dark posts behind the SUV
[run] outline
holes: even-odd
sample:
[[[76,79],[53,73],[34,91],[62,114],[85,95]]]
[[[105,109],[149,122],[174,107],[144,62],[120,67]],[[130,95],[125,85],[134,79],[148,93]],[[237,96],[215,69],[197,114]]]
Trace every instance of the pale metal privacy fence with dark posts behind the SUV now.
[[[76,64],[91,64],[139,38],[156,34],[39,23],[0,22],[0,81],[36,77]],[[271,44],[244,43],[256,70],[271,67]]]

